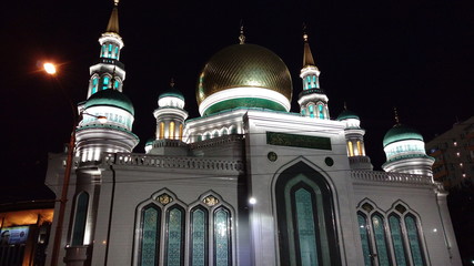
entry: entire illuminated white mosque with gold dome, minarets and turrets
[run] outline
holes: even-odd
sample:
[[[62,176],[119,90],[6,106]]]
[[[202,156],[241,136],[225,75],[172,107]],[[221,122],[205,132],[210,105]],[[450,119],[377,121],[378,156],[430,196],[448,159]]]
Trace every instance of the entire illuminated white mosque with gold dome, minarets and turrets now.
[[[117,7],[111,21],[79,106],[109,121],[78,127],[67,265],[461,265],[423,139],[396,125],[386,172],[372,171],[360,117],[330,117],[306,34],[300,113],[284,62],[241,32],[199,74],[201,116],[188,119],[190,99],[171,84],[154,137],[132,153]],[[61,185],[62,160],[51,155],[48,184]]]

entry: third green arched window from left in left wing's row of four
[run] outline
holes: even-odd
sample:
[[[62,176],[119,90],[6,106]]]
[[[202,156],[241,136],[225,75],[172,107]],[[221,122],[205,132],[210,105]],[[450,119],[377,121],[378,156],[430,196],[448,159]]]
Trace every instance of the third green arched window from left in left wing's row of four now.
[[[191,266],[208,265],[208,211],[196,207],[191,211]]]

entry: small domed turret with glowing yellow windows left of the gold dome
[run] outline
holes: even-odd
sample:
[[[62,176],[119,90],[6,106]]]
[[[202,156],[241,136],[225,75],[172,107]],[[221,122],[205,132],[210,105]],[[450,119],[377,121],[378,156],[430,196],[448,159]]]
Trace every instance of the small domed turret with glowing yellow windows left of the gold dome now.
[[[145,152],[160,155],[186,155],[183,130],[188,112],[184,110],[184,96],[174,88],[173,79],[171,79],[170,89],[158,96],[158,106],[153,112],[157,119],[155,140],[147,143]]]

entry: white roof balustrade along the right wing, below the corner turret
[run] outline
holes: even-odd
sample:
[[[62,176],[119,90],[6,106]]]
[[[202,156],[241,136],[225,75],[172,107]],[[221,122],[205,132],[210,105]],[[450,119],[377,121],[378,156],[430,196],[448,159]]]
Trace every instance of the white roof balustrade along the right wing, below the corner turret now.
[[[386,184],[405,184],[433,187],[436,184],[427,175],[414,175],[402,173],[387,173],[381,171],[351,171],[351,177],[355,181]]]

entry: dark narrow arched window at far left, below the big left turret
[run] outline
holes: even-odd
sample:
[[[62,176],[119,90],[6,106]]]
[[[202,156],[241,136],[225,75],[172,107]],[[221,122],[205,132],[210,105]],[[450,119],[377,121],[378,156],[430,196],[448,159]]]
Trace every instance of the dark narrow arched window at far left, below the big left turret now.
[[[80,192],[75,197],[74,229],[72,231],[72,246],[84,243],[85,221],[88,218],[89,194]]]

